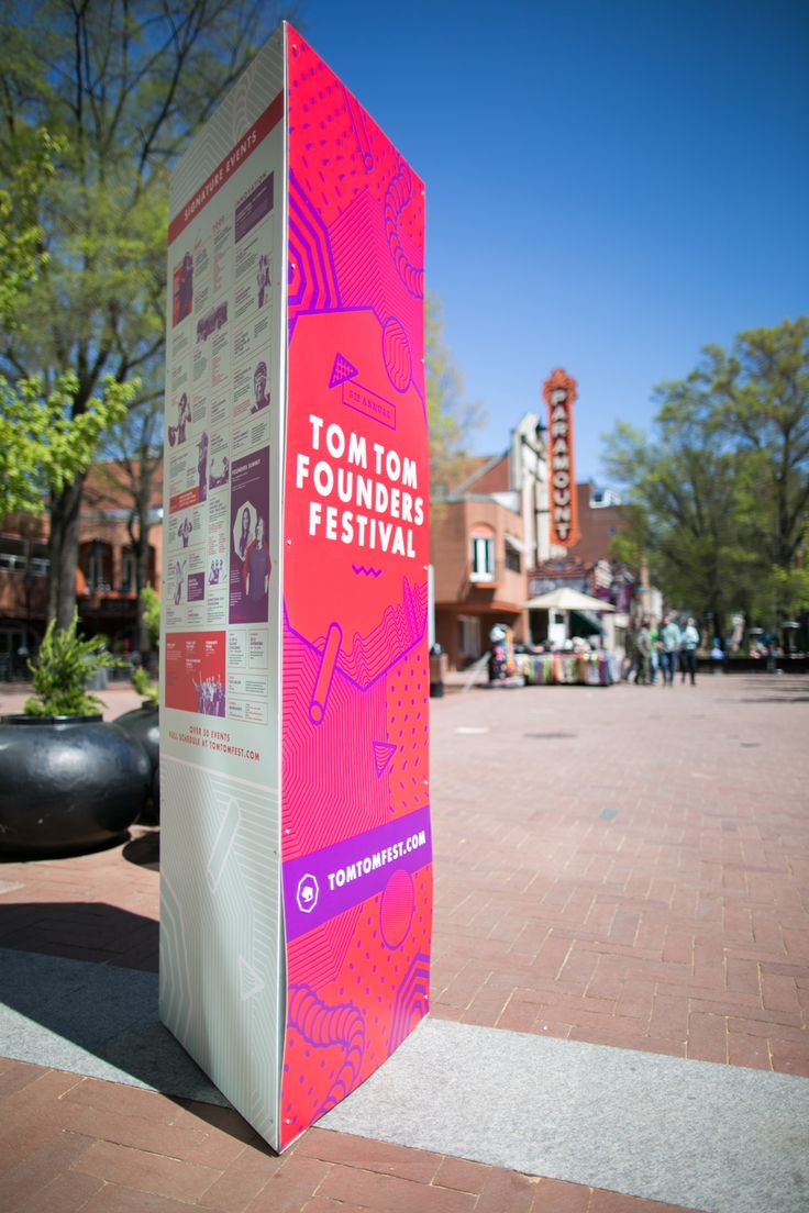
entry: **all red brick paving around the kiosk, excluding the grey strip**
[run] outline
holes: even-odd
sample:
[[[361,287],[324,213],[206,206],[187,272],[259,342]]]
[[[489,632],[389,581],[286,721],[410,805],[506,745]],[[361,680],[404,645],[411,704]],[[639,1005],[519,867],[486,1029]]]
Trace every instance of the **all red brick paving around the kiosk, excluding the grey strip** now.
[[[434,1015],[809,1075],[809,679],[475,689],[432,719]],[[0,865],[0,946],[155,968],[158,835]],[[235,1112],[11,1060],[0,1106],[7,1213],[667,1208],[323,1129],[279,1160]]]

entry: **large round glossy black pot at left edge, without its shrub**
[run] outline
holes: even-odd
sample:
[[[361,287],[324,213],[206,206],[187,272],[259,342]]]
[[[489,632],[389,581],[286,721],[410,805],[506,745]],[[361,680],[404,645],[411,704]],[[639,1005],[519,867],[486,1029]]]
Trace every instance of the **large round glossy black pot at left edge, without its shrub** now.
[[[143,747],[101,716],[5,716],[0,854],[91,850],[123,838],[149,791]]]

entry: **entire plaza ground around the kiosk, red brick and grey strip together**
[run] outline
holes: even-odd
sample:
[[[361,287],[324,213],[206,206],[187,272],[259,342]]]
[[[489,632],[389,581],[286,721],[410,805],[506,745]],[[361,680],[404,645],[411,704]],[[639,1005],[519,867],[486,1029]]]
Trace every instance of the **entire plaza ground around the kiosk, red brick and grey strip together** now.
[[[432,1015],[280,1158],[156,1023],[159,830],[0,865],[5,1213],[809,1211],[809,678],[431,713]]]

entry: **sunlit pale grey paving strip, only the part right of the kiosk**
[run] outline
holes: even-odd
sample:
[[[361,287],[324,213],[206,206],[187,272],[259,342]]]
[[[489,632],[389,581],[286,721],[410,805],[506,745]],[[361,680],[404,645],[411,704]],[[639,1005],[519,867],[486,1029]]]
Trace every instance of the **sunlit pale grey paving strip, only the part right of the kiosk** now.
[[[711,1213],[809,1209],[809,1080],[427,1020],[321,1128]]]

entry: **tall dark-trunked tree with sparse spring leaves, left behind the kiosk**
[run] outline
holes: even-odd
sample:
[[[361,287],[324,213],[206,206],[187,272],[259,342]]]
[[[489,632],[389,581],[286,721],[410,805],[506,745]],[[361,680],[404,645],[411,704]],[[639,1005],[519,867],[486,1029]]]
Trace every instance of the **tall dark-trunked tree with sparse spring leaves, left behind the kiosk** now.
[[[58,141],[36,221],[47,262],[5,330],[0,369],[72,372],[70,420],[106,376],[150,397],[164,344],[167,166],[274,24],[261,0],[8,0],[0,12],[0,186]],[[69,626],[85,472],[52,491],[51,617]]]

